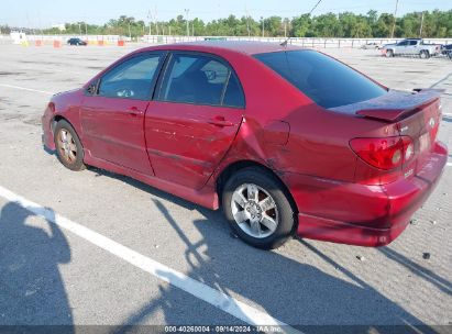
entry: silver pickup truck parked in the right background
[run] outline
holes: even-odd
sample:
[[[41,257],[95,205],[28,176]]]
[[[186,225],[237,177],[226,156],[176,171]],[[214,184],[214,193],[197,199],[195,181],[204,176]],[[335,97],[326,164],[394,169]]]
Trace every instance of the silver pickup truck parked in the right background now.
[[[407,38],[396,44],[386,44],[383,46],[383,54],[386,57],[394,57],[400,55],[418,55],[427,59],[440,53],[440,45],[426,44],[421,38]]]

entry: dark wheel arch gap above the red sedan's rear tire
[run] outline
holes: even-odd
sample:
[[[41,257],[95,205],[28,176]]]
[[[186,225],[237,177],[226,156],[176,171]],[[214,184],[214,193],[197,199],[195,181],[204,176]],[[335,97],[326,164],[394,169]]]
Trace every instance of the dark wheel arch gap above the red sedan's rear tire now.
[[[224,167],[221,172],[219,174],[219,176],[216,179],[216,191],[218,194],[218,199],[219,199],[219,203],[222,203],[222,194],[223,194],[223,187],[225,185],[225,182],[228,181],[228,179],[235,172],[244,169],[244,168],[249,168],[249,167],[256,167],[258,169],[262,169],[264,172],[272,175],[282,186],[283,191],[285,192],[285,194],[287,196],[287,199],[290,203],[290,207],[293,208],[294,211],[294,220],[295,220],[295,224],[294,224],[294,230],[296,231],[296,229],[298,227],[298,207],[294,200],[294,197],[291,196],[288,187],[286,186],[286,183],[283,181],[283,179],[278,176],[277,172],[275,172],[272,168],[269,168],[268,166],[265,166],[264,164],[254,162],[254,160],[239,160],[239,162],[234,162],[230,165],[228,165],[227,167]]]

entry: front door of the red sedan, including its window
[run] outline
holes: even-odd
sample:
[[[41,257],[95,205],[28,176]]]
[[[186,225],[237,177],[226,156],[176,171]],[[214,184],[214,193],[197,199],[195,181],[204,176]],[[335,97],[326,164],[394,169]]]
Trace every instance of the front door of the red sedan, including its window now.
[[[144,116],[162,53],[144,53],[108,70],[84,99],[84,145],[96,158],[153,175],[144,140]]]

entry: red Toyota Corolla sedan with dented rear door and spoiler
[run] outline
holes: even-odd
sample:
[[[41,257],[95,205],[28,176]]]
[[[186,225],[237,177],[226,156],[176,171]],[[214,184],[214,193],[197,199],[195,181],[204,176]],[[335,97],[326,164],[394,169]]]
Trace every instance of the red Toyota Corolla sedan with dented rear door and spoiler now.
[[[390,90],[295,46],[146,47],[52,98],[45,145],[73,170],[123,174],[222,207],[246,243],[386,245],[447,162],[434,90]]]

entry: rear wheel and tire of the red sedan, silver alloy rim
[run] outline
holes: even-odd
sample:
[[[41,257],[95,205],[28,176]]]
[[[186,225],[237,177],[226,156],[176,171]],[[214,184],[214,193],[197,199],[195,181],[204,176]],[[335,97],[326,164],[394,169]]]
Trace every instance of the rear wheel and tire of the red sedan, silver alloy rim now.
[[[263,168],[247,167],[233,174],[223,187],[222,208],[232,231],[257,248],[277,248],[296,226],[287,191]]]

